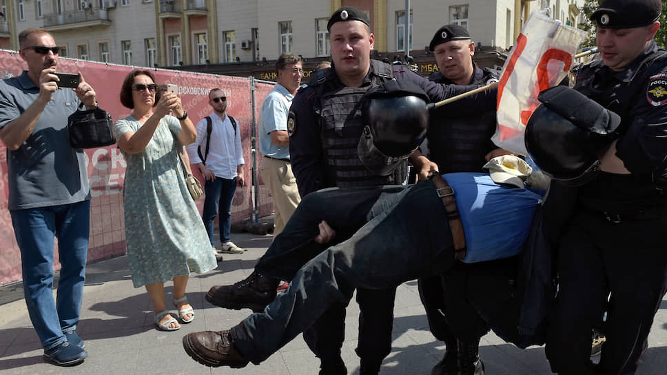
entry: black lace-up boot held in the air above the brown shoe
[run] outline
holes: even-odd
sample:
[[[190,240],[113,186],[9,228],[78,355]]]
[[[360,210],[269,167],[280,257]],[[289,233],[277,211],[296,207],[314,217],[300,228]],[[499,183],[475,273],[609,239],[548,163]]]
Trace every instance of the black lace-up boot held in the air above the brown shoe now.
[[[280,280],[253,272],[234,285],[216,285],[206,293],[206,301],[225,309],[262,312],[276,298]]]

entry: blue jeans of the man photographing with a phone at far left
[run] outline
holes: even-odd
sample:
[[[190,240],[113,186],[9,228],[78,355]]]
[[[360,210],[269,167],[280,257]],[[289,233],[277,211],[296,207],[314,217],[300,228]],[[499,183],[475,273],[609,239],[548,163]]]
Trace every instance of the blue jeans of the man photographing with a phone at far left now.
[[[63,332],[76,330],[79,323],[88,256],[90,201],[10,213],[21,250],[25,304],[42,346],[51,349],[65,342]],[[54,301],[56,237],[62,268]]]

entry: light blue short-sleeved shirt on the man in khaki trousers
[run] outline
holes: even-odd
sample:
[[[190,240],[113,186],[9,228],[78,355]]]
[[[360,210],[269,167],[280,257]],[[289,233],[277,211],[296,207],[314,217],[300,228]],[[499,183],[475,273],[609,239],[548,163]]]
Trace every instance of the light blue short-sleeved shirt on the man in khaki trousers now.
[[[271,141],[270,132],[287,131],[287,114],[294,96],[283,85],[276,83],[262,103],[259,121],[259,150],[265,156],[289,159],[289,146],[279,146]]]

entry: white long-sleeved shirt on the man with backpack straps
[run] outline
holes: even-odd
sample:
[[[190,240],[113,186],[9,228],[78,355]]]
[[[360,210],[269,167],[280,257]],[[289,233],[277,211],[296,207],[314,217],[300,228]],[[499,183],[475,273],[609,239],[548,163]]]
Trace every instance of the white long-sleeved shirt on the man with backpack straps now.
[[[225,119],[213,112],[210,114],[212,120],[211,142],[209,143],[209,153],[206,157],[206,168],[208,168],[216,177],[222,179],[234,179],[237,176],[236,166],[245,163],[243,161],[243,149],[241,148],[241,134],[238,122],[236,123],[236,132],[232,126],[232,121],[225,114]],[[202,160],[197,154],[197,149],[201,145],[201,155],[206,151],[206,119],[201,119],[197,125],[197,140],[191,145],[185,146],[190,163],[201,163]],[[234,134],[236,133],[236,134]]]

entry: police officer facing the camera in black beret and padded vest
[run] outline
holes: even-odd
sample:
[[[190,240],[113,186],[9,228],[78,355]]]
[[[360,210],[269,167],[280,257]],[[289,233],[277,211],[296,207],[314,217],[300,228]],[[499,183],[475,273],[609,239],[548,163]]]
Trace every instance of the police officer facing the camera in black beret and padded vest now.
[[[404,70],[401,65],[371,60],[375,37],[369,25],[365,12],[347,6],[336,10],[327,25],[333,67],[319,70],[292,102],[287,123],[289,153],[302,197],[324,187],[391,185],[405,180],[405,163],[384,173],[369,170],[358,156],[358,144],[365,128],[362,98],[370,88],[391,79],[411,81],[420,86],[431,101],[471,89],[435,84]],[[458,103],[457,108],[469,114],[495,109],[495,92],[479,94]],[[353,231],[346,233],[344,229],[337,229],[337,232],[336,241],[343,241],[353,234]],[[207,293],[207,301],[220,307],[262,310],[276,296],[280,263],[302,264],[317,254],[305,255],[283,254],[280,260],[276,254],[265,254],[258,261],[256,272],[235,285],[212,287]],[[395,294],[395,288],[358,290],[361,313],[356,352],[361,358],[362,374],[377,374],[382,359],[391,352]],[[309,347],[321,360],[320,374],[347,374],[340,357],[344,325],[345,305],[339,304],[325,312],[304,334]]]

